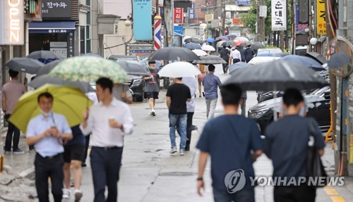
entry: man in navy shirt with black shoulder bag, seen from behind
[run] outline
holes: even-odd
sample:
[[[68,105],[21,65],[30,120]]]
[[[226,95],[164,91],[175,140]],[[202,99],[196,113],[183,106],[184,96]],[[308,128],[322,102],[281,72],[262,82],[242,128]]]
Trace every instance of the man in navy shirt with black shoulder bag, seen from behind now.
[[[284,186],[294,177],[299,182],[299,177],[306,177],[306,156],[308,143],[311,136],[310,121],[299,115],[304,106],[304,98],[297,89],[287,89],[283,96],[285,117],[271,123],[265,131],[265,153],[273,162],[273,177],[287,177],[287,182],[277,184],[274,190],[275,202],[277,201],[315,201],[316,189],[306,184],[300,186]],[[318,153],[323,155],[325,143],[316,127],[315,144]],[[299,184],[297,184],[299,185]],[[290,199],[290,200],[289,200]]]

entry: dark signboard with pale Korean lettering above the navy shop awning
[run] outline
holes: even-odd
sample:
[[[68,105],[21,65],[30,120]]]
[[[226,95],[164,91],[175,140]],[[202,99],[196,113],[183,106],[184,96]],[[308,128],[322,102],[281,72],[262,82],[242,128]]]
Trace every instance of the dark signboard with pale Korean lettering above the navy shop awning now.
[[[71,0],[42,0],[42,15],[45,18],[71,18]]]

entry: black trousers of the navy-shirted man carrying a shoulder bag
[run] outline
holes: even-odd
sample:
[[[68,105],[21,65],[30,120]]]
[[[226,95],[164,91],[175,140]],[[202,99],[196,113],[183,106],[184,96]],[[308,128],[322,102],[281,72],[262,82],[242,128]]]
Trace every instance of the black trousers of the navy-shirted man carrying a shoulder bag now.
[[[315,202],[316,189],[306,185],[275,187],[275,202]]]

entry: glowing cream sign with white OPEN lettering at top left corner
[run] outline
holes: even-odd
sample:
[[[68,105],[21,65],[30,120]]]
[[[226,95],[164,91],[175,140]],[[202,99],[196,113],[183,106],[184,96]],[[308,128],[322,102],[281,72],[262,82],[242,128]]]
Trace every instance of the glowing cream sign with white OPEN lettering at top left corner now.
[[[0,1],[0,45],[25,44],[23,0]]]

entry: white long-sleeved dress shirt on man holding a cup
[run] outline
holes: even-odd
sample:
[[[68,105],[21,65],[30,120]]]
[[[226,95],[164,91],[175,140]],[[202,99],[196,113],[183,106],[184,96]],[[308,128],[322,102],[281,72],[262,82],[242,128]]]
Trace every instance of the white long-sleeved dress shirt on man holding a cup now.
[[[109,118],[114,118],[124,126],[124,132],[119,128],[109,126]],[[124,134],[131,134],[133,130],[133,118],[130,108],[126,103],[113,98],[109,106],[104,106],[102,102],[90,107],[87,126],[80,125],[83,134],[90,137],[91,146],[124,146]]]

